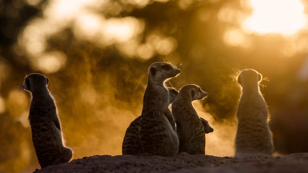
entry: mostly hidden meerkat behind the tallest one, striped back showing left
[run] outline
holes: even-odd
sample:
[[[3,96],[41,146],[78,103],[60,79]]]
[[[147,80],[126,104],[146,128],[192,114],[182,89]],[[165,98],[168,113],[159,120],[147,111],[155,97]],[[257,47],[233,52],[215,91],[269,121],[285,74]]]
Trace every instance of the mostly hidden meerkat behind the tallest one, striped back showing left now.
[[[167,89],[169,94],[169,104],[171,104],[174,101],[175,97],[178,95],[178,91],[175,90],[173,87],[167,87]],[[138,135],[138,130],[140,128],[140,120],[141,115],[138,116],[127,128],[122,143],[122,155],[137,155],[140,152],[141,139]],[[170,122],[170,124],[171,126],[175,126],[175,121],[173,120],[173,122]]]

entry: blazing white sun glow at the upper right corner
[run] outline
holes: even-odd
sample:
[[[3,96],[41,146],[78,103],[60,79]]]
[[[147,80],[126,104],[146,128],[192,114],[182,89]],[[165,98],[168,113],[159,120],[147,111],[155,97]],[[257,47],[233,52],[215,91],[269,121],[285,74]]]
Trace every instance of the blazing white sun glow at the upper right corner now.
[[[301,0],[250,0],[250,4],[253,14],[242,25],[247,32],[292,35],[307,23]]]

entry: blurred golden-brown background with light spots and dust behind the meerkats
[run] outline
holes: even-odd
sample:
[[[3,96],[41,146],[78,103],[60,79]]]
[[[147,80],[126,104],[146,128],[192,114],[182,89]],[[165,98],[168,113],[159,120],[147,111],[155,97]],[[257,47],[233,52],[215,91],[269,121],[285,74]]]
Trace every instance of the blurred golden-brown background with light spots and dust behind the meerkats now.
[[[40,168],[26,74],[42,73],[73,158],[120,155],[141,114],[147,70],[170,62],[196,84],[214,132],[205,152],[233,156],[238,72],[254,68],[276,153],[308,152],[308,2],[304,0],[0,0],[0,172]]]

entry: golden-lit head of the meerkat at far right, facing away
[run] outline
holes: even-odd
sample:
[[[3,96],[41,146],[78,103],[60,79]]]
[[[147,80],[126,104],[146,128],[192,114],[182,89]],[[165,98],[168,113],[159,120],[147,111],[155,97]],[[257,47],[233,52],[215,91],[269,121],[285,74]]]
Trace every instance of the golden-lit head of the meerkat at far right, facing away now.
[[[262,75],[254,69],[245,69],[241,71],[237,77],[237,81],[242,87],[244,85],[253,87],[262,81]]]

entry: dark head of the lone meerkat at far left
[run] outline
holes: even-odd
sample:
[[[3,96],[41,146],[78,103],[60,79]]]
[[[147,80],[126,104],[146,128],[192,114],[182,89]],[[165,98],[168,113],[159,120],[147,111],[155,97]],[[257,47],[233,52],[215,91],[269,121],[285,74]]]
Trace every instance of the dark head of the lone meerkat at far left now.
[[[33,92],[40,88],[46,88],[49,79],[41,74],[32,73],[25,77],[25,83],[22,85],[26,90]]]

